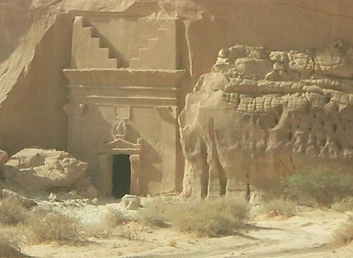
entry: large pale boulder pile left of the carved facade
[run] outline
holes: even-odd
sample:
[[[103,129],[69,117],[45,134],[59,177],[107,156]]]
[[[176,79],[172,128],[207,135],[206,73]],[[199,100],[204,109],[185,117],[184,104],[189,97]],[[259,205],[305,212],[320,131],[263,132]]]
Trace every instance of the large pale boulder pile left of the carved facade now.
[[[10,157],[0,175],[6,185],[31,194],[58,188],[85,194],[93,192],[86,168],[65,151],[24,149]]]

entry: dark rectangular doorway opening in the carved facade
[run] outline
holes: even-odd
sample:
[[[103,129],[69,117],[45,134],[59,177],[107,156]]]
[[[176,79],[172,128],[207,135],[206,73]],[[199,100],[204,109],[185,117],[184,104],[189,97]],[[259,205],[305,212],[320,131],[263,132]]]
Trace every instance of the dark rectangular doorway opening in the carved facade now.
[[[130,155],[113,156],[113,196],[121,198],[130,193]]]

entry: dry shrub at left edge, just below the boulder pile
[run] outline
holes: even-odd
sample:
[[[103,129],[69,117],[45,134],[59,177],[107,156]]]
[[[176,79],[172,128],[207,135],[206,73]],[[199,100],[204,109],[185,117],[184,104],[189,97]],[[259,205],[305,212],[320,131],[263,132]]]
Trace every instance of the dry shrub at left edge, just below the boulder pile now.
[[[29,212],[12,198],[5,198],[1,201],[0,206],[0,224],[17,225],[24,223]]]

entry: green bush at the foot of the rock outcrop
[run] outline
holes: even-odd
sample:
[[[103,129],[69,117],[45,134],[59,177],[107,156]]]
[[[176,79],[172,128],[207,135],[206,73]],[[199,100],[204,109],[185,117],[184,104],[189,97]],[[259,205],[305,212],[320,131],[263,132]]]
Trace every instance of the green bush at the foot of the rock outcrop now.
[[[289,177],[286,192],[298,200],[312,198],[329,207],[353,195],[353,175],[320,168],[306,168]]]

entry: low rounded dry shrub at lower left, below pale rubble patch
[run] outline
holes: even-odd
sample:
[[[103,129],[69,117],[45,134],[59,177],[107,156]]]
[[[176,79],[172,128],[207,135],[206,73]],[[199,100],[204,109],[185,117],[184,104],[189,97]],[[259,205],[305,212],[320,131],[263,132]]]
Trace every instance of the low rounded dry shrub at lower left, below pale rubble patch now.
[[[32,214],[26,220],[27,238],[34,243],[77,244],[85,240],[75,218],[58,213]]]

